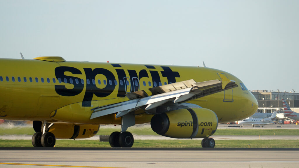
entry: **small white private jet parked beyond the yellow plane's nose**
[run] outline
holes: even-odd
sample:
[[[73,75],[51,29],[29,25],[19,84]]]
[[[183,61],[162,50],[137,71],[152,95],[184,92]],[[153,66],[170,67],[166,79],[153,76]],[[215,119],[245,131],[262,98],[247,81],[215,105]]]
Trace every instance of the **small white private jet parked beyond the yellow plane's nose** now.
[[[252,125],[252,127],[256,125],[267,125],[267,124],[274,124],[273,121],[276,120],[276,113],[273,112],[270,118],[246,118],[242,121],[239,121],[238,124],[240,125]]]

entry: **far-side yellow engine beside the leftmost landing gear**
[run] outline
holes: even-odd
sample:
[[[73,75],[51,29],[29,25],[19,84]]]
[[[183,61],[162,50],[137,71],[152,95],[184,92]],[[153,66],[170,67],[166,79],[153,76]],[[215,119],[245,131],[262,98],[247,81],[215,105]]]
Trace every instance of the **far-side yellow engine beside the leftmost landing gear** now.
[[[49,129],[57,139],[90,138],[97,134],[99,125],[54,124]]]

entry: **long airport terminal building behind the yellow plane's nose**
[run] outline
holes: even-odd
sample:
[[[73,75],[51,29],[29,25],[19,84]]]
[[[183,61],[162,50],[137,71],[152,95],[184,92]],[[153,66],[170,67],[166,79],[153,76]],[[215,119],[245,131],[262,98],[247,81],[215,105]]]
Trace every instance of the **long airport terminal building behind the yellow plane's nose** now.
[[[251,93],[257,99],[259,107],[257,113],[272,113],[274,111],[283,111],[282,99],[286,100],[291,110],[299,113],[299,93],[295,91],[267,91],[252,90]]]

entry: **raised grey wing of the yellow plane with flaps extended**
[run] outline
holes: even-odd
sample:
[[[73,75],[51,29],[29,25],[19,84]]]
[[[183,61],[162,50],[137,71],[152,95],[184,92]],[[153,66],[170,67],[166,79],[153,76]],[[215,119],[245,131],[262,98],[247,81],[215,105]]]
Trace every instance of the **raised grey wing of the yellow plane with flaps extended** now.
[[[221,77],[221,79],[222,81],[210,80],[199,83],[196,83],[194,80],[186,80],[149,88],[149,91],[152,92],[151,96],[148,96],[144,90],[128,93],[126,96],[130,100],[94,108],[90,119],[113,113],[117,113],[116,117],[118,118],[140,108],[144,109],[148,114],[155,114],[156,108],[167,102],[181,104],[210,94],[238,87],[235,81],[228,80],[225,76]],[[188,103],[187,106],[195,105]],[[170,110],[168,109],[168,111]]]

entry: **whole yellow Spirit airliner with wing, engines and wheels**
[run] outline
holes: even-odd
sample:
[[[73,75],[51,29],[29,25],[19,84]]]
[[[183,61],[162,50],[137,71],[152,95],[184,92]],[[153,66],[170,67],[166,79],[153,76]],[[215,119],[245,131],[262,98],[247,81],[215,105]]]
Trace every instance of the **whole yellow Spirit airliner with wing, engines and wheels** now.
[[[142,123],[159,135],[203,138],[203,147],[214,147],[209,137],[219,122],[249,117],[257,106],[241,80],[212,68],[0,59],[0,119],[32,120],[35,147],[89,138],[108,124],[121,125],[110,145],[131,147],[126,130]]]

